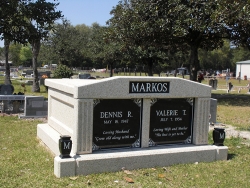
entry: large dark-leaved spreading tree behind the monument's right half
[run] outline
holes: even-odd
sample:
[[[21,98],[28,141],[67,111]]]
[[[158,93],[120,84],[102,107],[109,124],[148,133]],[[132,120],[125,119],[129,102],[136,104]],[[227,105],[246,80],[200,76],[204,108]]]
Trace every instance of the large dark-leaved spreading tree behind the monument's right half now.
[[[242,7],[245,7],[243,13],[240,11]],[[198,49],[222,47],[225,38],[236,44],[246,42],[242,36],[249,36],[245,31],[250,25],[248,7],[243,0],[237,3],[224,0],[124,0],[111,11],[109,38],[121,42],[128,51],[132,49],[138,57],[143,57],[143,61],[151,57],[167,60],[166,51],[188,50],[191,79],[196,80],[200,69]],[[232,16],[238,19],[232,19]],[[151,64],[148,63],[149,70]]]

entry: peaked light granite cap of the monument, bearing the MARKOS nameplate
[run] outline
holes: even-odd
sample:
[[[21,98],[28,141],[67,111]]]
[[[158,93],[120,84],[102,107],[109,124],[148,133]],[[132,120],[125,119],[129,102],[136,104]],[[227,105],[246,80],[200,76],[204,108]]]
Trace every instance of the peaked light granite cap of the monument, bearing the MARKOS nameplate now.
[[[211,87],[176,77],[117,76],[101,80],[46,79],[46,86],[79,99],[211,97]],[[183,92],[185,91],[185,92]]]

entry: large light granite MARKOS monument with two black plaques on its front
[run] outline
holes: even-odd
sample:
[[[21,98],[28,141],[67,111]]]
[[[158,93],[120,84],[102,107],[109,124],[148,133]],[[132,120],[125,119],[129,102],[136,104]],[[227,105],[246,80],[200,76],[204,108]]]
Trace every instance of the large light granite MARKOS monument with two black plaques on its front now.
[[[37,136],[57,177],[226,160],[208,145],[211,87],[171,77],[46,79],[48,123]],[[72,139],[61,158],[61,135]]]

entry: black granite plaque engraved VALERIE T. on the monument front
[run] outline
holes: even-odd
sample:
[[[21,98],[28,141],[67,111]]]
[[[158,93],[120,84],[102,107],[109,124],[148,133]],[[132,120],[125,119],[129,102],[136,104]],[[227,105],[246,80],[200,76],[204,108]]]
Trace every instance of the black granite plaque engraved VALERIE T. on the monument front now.
[[[191,143],[192,119],[192,99],[152,100],[149,145]]]

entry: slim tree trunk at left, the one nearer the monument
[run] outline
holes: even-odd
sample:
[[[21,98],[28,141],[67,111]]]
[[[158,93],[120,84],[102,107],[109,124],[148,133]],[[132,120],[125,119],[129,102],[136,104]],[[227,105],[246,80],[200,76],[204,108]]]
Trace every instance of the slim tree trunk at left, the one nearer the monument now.
[[[37,71],[37,57],[40,50],[40,40],[35,40],[32,42],[32,65],[33,65],[33,86],[32,92],[40,92],[39,79],[38,79],[38,71]]]

